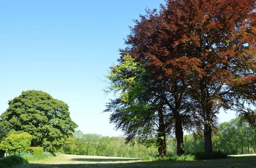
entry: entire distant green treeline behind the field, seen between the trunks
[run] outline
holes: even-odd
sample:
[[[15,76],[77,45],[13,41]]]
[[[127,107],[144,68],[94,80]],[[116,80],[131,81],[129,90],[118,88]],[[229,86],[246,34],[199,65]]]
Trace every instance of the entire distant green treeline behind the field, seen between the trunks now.
[[[222,151],[226,154],[248,154],[256,153],[256,132],[255,128],[241,119],[232,119],[230,122],[221,123],[216,127],[212,135],[214,151]],[[176,138],[167,138],[167,154],[177,153]],[[184,135],[184,149],[186,153],[193,153],[204,150],[203,134]],[[142,145],[138,139],[134,145],[125,144],[125,137],[109,137],[98,134],[83,134],[75,131],[69,137],[62,152],[76,155],[97,155],[116,157],[146,157],[157,156],[156,146],[147,143]]]

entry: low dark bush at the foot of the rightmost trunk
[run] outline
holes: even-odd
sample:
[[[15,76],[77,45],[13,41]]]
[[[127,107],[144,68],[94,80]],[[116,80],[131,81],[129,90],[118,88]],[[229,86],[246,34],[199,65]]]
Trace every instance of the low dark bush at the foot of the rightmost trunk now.
[[[214,151],[211,154],[205,153],[204,151],[200,151],[200,152],[194,153],[194,155],[198,160],[227,158],[227,155],[222,151]]]

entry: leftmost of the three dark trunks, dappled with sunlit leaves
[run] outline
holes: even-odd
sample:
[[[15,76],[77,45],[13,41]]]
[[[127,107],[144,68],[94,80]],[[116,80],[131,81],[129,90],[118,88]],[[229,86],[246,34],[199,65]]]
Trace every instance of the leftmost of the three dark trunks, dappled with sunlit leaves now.
[[[167,147],[166,147],[166,134],[165,134],[165,124],[163,118],[163,111],[158,111],[159,115],[159,129],[158,129],[158,152],[159,157],[163,157],[167,154]]]

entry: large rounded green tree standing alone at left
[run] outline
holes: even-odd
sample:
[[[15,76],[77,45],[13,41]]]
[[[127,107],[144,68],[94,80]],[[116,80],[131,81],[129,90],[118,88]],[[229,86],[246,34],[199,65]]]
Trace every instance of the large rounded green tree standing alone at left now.
[[[9,101],[1,115],[8,128],[32,135],[32,146],[53,152],[59,149],[77,125],[71,120],[69,106],[42,91],[24,91]]]

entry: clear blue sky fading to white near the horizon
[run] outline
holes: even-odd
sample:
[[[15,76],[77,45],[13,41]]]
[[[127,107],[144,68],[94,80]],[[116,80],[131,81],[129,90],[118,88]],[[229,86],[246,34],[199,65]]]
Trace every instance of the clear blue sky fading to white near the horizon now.
[[[70,106],[84,133],[118,136],[102,114],[106,70],[144,9],[163,0],[0,1],[0,114],[8,100],[41,90]],[[222,114],[221,122],[234,118]]]

